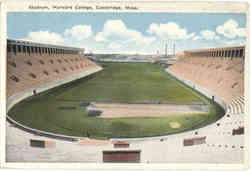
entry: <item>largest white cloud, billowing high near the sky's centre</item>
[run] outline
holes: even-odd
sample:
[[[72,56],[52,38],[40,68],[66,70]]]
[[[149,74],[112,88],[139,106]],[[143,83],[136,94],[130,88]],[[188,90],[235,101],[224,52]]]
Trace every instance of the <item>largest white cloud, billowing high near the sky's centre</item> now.
[[[112,39],[121,42],[135,42],[136,44],[151,44],[155,37],[146,37],[141,32],[127,28],[122,20],[108,20],[104,24],[102,32],[95,36],[97,42],[110,41]]]

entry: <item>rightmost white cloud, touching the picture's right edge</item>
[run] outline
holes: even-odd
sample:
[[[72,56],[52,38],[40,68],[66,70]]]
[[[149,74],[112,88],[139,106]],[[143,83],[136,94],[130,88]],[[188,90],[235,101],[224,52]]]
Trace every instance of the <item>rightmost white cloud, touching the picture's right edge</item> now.
[[[216,28],[217,33],[224,35],[226,38],[235,38],[235,37],[245,37],[246,28],[239,28],[239,24],[230,19],[225,22],[223,25],[219,25]]]

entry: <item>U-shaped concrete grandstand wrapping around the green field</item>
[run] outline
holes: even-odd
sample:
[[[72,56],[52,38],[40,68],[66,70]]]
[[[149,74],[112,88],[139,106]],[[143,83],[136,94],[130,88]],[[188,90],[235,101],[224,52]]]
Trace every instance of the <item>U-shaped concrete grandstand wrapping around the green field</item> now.
[[[167,136],[109,140],[71,137],[78,141],[65,141],[70,137],[31,129],[8,118],[7,161],[101,163],[105,161],[103,151],[114,151],[114,144],[122,141],[129,144],[123,151],[140,151],[136,162],[141,163],[242,163],[244,50],[241,46],[184,51],[166,68],[168,74],[221,105],[226,114],[215,123]],[[102,70],[82,51],[8,40],[7,110],[27,97]],[[33,148],[29,144],[32,139],[56,145]],[[192,143],[186,146],[184,141],[188,140]]]

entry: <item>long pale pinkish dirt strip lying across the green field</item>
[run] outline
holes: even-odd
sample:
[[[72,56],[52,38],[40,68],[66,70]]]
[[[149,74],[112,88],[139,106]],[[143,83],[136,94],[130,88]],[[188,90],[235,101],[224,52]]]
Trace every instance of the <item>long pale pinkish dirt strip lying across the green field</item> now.
[[[102,111],[101,118],[166,117],[189,113],[207,113],[207,105],[179,104],[91,104],[88,109]]]

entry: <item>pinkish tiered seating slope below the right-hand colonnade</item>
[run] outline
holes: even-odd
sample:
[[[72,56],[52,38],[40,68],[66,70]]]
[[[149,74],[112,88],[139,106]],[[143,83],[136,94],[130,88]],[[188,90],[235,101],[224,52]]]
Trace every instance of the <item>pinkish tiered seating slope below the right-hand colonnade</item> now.
[[[182,57],[169,70],[177,76],[207,88],[230,103],[234,96],[243,95],[243,58]]]

